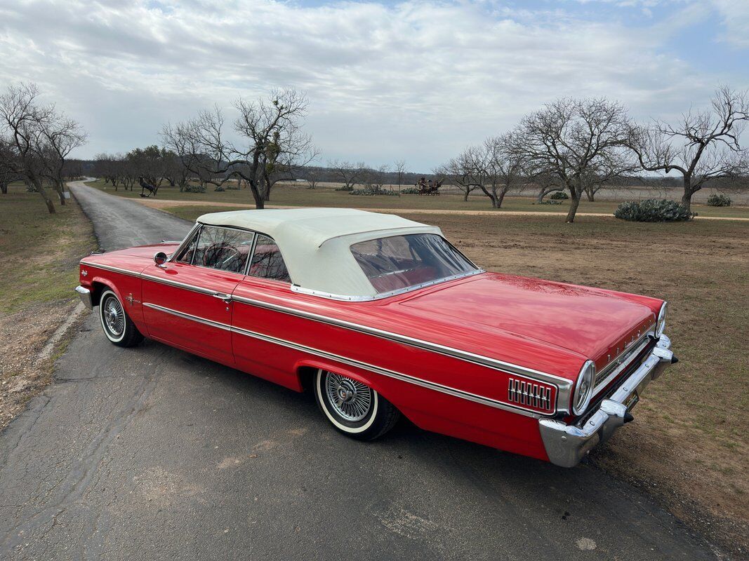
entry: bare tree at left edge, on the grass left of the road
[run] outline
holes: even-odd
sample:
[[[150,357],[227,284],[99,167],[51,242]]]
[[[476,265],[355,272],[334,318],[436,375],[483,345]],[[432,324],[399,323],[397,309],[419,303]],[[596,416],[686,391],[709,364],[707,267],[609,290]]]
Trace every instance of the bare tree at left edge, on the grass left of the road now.
[[[54,105],[41,105],[38,96],[34,84],[10,85],[0,96],[0,138],[4,147],[0,168],[23,177],[43,198],[47,210],[54,213],[44,181],[51,180],[58,188],[55,178],[61,181],[64,158],[82,143],[85,135],[78,123],[58,113]]]

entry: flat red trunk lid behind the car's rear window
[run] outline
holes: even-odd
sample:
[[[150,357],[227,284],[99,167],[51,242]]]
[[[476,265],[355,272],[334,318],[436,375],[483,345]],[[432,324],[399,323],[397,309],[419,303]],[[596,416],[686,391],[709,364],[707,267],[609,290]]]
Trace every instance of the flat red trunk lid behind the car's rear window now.
[[[655,324],[650,298],[498,273],[423,292],[400,306],[426,318],[448,318],[456,327],[497,330],[568,349],[601,368],[616,346]],[[404,310],[405,311],[405,310]]]

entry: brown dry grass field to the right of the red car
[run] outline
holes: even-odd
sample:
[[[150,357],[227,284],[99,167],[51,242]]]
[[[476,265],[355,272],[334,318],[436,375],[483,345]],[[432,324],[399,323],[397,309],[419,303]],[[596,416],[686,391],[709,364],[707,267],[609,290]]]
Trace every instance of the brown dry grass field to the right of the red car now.
[[[164,210],[192,220],[223,209]],[[642,485],[713,539],[748,551],[749,222],[398,214],[440,226],[490,271],[667,299],[679,364],[649,387],[635,422],[589,462]]]

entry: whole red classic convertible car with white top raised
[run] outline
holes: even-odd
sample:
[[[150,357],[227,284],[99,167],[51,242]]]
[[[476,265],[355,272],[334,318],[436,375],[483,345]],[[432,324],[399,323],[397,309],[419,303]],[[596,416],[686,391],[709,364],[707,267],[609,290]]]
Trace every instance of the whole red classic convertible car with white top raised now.
[[[312,390],[345,435],[402,414],[565,467],[676,362],[658,298],[485,272],[437,227],[350,209],[203,215],[182,242],[86,257],[80,283],[115,345]]]

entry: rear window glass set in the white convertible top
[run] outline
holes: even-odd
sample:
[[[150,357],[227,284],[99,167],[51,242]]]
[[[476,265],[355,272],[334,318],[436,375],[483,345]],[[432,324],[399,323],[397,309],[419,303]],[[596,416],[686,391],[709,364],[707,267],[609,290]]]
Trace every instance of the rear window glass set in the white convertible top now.
[[[371,239],[351,245],[351,253],[380,294],[476,270],[436,234]]]

